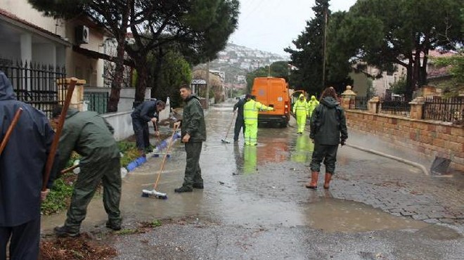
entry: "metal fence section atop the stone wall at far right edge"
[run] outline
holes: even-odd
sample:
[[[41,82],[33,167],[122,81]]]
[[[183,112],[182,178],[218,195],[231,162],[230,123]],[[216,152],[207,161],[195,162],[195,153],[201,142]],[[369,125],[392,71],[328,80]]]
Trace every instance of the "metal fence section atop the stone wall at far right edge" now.
[[[443,122],[464,120],[464,97],[425,98],[423,119]]]

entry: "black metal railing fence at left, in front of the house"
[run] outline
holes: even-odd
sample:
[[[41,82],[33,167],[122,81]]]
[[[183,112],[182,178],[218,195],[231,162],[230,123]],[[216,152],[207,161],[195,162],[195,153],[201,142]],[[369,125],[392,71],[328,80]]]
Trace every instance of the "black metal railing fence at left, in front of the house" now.
[[[11,80],[16,97],[51,117],[53,106],[63,103],[64,89],[58,89],[57,79],[65,79],[64,67],[37,63],[13,63],[0,60],[0,70]],[[59,91],[63,91],[59,93]]]

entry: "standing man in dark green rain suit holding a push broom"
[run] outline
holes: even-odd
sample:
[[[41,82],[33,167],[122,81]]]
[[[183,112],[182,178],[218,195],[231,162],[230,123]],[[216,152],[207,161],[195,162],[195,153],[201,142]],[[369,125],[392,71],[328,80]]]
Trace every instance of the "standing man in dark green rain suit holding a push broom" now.
[[[181,138],[186,145],[187,163],[183,184],[174,191],[186,193],[193,191],[193,188],[203,188],[200,153],[202,143],[206,141],[206,124],[202,105],[198,97],[192,95],[192,89],[188,85],[183,85],[180,93],[186,105],[183,108],[182,121],[176,122],[175,125],[176,127],[181,125]]]

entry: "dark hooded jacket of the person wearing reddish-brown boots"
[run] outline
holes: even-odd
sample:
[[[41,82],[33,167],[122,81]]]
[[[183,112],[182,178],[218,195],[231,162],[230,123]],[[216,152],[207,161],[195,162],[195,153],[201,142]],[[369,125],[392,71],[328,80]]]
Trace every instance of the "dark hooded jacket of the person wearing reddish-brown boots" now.
[[[340,103],[332,97],[325,97],[317,105],[311,116],[309,137],[321,145],[338,145],[348,138],[347,119]]]

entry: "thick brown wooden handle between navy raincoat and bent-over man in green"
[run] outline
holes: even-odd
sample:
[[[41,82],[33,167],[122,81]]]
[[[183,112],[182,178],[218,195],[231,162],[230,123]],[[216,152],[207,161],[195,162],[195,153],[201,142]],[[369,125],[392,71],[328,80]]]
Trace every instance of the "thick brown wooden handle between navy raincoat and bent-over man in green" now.
[[[65,124],[65,117],[67,113],[67,108],[69,108],[72,98],[72,92],[74,91],[74,87],[76,86],[77,79],[72,78],[70,82],[70,86],[67,87],[66,99],[63,105],[63,109],[61,110],[60,119],[58,119],[58,126],[56,128],[55,136],[53,137],[53,143],[51,143],[49,157],[46,160],[45,164],[45,173],[44,173],[44,181],[42,182],[42,191],[46,190],[46,185],[49,182],[51,167],[53,167],[53,160],[55,160],[56,150],[58,149],[58,143],[60,141],[61,130],[63,130],[63,124]]]

